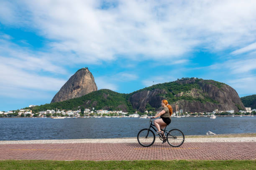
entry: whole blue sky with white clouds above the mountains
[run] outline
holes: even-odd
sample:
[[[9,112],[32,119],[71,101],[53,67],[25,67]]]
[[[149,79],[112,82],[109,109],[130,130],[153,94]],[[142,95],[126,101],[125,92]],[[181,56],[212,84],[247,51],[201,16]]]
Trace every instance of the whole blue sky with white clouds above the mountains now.
[[[0,0],[0,110],[50,103],[88,67],[98,90],[182,77],[256,94],[255,0]]]

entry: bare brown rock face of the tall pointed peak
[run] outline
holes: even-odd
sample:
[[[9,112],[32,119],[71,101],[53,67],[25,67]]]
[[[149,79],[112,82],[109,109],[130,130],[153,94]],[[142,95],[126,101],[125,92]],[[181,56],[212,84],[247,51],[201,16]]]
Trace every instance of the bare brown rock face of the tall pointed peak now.
[[[61,102],[64,100],[81,97],[90,92],[97,91],[97,85],[92,73],[87,67],[78,70],[61,87],[59,92],[53,97],[51,102]]]

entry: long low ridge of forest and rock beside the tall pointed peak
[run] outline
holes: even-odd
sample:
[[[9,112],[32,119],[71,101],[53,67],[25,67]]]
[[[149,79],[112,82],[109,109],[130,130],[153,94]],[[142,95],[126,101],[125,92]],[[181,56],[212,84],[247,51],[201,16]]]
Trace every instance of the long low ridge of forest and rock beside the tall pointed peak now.
[[[212,112],[218,110],[245,110],[236,90],[214,80],[182,78],[137,90],[129,94],[101,89],[82,97],[33,107],[34,112],[47,109],[123,110],[124,112],[158,111],[161,100],[168,100],[173,110],[183,112]]]

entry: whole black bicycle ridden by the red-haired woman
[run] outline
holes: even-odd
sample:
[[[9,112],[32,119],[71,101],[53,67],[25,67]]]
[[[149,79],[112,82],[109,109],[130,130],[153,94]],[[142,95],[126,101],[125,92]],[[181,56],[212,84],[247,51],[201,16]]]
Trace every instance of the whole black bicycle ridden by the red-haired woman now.
[[[149,128],[145,128],[139,131],[138,135],[137,135],[137,140],[138,143],[143,146],[143,147],[149,147],[151,145],[153,145],[153,143],[156,140],[156,135],[155,133],[151,130],[154,129],[155,132],[157,132],[157,130],[154,128],[155,125],[152,125],[152,118],[150,118],[149,121]],[[156,126],[155,126],[156,127]],[[159,133],[159,138],[160,140],[164,140],[164,138],[166,138],[167,143],[169,145],[171,145],[172,147],[179,147],[184,143],[185,137],[184,134],[182,133],[181,130],[179,129],[172,129],[169,132],[167,130],[165,130],[167,127],[167,125],[165,126],[164,133],[166,133],[166,137],[164,137],[163,135],[161,135],[161,133]]]

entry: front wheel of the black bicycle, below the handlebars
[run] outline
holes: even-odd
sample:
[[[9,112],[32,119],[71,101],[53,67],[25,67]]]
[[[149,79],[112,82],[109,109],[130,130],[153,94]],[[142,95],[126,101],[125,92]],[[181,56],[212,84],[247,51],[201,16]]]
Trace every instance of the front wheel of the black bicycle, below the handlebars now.
[[[137,139],[138,139],[138,143],[141,146],[148,147],[155,142],[156,136],[152,130],[142,129],[141,131],[139,131],[137,135]]]

